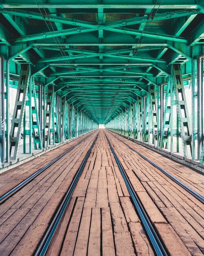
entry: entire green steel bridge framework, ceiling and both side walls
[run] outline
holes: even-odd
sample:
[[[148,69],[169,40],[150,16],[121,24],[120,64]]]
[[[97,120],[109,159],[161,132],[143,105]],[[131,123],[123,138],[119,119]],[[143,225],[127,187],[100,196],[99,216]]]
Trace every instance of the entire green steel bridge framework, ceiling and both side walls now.
[[[136,2],[1,0],[2,163],[106,124],[202,165],[204,0]]]

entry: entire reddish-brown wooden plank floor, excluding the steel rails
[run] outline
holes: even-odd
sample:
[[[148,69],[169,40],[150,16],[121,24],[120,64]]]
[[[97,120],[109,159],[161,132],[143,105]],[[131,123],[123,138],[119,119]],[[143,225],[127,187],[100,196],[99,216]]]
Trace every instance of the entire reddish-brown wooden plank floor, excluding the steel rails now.
[[[203,255],[202,204],[110,132],[105,132],[169,255]],[[33,254],[96,134],[93,132],[86,142],[50,167],[46,175],[37,177],[32,185],[27,185],[2,205],[0,255]],[[131,141],[125,142],[130,144]],[[133,142],[131,146],[152,157],[161,167],[168,167],[169,172],[175,173],[182,182],[189,182],[193,189],[203,193],[204,176]],[[59,151],[62,151],[60,147]],[[33,162],[30,164],[33,165]],[[189,178],[185,172],[193,178]],[[20,171],[19,175],[24,175],[24,171]],[[18,175],[15,178],[18,179]],[[4,182],[6,185],[6,178]],[[8,182],[12,184],[9,178]],[[103,130],[99,133],[47,255],[154,255]]]

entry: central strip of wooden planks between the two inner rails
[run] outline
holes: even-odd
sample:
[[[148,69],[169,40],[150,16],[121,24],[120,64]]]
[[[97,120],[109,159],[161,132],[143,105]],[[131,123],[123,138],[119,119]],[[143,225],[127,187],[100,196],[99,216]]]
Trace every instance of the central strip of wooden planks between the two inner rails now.
[[[48,255],[154,255],[102,131],[72,199]]]

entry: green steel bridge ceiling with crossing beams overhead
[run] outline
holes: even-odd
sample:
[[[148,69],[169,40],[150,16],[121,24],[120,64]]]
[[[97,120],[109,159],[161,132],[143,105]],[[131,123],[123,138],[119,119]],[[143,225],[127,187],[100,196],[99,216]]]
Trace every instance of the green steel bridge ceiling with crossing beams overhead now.
[[[135,2],[1,0],[0,45],[15,63],[31,63],[36,80],[107,123],[204,44],[204,0]]]

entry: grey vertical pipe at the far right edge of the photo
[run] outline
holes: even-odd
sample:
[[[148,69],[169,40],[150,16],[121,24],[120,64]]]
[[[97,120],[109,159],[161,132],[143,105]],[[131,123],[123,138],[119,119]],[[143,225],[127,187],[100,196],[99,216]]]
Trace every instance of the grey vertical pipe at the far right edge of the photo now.
[[[202,151],[202,58],[200,54],[197,58],[197,159],[200,160]]]

